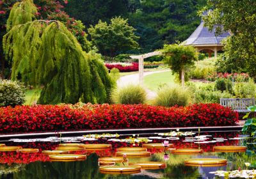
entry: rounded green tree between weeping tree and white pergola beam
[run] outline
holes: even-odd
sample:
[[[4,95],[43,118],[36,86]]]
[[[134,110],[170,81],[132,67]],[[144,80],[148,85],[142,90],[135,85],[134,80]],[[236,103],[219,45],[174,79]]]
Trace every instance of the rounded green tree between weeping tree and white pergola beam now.
[[[99,24],[88,29],[93,45],[104,56],[113,58],[118,51],[128,51],[138,48],[138,36],[134,35],[135,29],[129,26],[127,19],[115,17],[110,24],[99,20]]]

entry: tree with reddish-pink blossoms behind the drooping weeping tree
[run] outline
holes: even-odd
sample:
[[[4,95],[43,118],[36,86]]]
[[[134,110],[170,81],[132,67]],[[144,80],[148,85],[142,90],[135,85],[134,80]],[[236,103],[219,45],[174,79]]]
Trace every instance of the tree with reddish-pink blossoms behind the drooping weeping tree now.
[[[8,78],[10,74],[11,64],[6,63],[3,54],[3,44],[2,38],[6,34],[6,22],[10,14],[10,10],[14,3],[19,0],[0,0],[0,61],[1,61],[1,78]],[[63,22],[70,30],[74,36],[76,36],[79,43],[82,45],[83,50],[90,51],[91,43],[86,39],[87,35],[84,32],[84,25],[80,20],[71,18],[63,11],[63,4],[67,1],[45,1],[45,0],[35,0],[37,12],[35,13],[36,19],[47,19],[47,20],[60,20]],[[17,13],[15,13],[17,14]]]

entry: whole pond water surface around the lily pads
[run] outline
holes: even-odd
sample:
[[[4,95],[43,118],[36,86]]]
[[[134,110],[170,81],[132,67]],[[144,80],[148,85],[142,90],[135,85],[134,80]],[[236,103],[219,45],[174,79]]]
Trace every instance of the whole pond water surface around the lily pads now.
[[[198,140],[196,136],[200,139]],[[94,136],[95,137],[95,136]],[[100,137],[100,136],[97,136]],[[103,174],[99,171],[99,157],[115,156],[116,148],[141,146],[142,143],[136,139],[131,139],[132,143],[118,141],[127,138],[146,138],[148,143],[163,143],[169,141],[174,144],[174,148],[200,148],[204,150],[202,154],[196,155],[175,155],[169,150],[148,149],[151,152],[150,157],[129,158],[129,162],[159,161],[165,162],[165,169],[142,169],[141,173],[131,175],[111,175]],[[188,138],[186,138],[188,137]],[[192,137],[193,139],[189,138]],[[110,139],[110,140],[109,140]],[[140,139],[140,138],[139,138]],[[145,141],[145,139],[142,139]],[[106,143],[111,144],[111,150],[90,150],[83,151],[86,154],[86,160],[73,162],[52,162],[47,155],[43,155],[42,150],[54,150],[60,143]],[[38,153],[20,153],[20,152],[0,152],[0,178],[218,178],[209,172],[216,170],[232,171],[239,167],[245,169],[244,162],[253,164],[255,160],[254,144],[247,144],[248,139],[239,135],[239,132],[214,132],[200,133],[193,136],[159,136],[158,134],[140,135],[140,136],[119,136],[100,137],[94,139],[91,137],[49,137],[44,139],[11,139],[10,141],[1,141],[6,146],[22,146],[23,148],[38,148]],[[213,152],[213,146],[220,145],[244,145],[247,146],[246,152]],[[81,153],[81,152],[78,152]],[[165,157],[164,157],[165,154]],[[167,155],[166,155],[167,154]],[[227,166],[185,166],[184,160],[191,158],[220,158],[227,159]],[[122,164],[117,164],[122,166]],[[125,163],[125,165],[127,165]]]

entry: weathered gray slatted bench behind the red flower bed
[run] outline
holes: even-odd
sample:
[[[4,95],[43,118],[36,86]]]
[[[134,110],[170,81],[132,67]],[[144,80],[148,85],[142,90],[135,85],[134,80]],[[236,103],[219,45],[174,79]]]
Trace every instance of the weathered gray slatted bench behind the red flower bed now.
[[[247,107],[255,105],[255,98],[220,98],[220,104],[238,113],[248,113]]]

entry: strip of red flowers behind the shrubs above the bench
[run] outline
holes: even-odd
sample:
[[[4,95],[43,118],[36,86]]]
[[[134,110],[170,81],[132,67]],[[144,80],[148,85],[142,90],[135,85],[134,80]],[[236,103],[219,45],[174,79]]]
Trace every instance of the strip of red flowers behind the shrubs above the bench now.
[[[214,73],[212,75],[209,75],[207,77],[207,80],[209,81],[216,81],[216,79],[220,79],[220,78],[225,78],[225,79],[230,79],[231,81],[236,81],[236,82],[247,82],[249,79],[249,75],[248,74],[228,74],[228,73]]]

